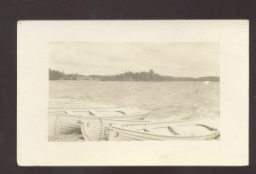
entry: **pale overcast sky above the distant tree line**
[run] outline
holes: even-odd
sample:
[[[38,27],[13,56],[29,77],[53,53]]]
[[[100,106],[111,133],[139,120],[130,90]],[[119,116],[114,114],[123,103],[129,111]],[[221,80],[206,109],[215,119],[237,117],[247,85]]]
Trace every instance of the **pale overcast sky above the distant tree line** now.
[[[218,43],[51,42],[49,68],[83,75],[148,72],[176,77],[219,76]]]

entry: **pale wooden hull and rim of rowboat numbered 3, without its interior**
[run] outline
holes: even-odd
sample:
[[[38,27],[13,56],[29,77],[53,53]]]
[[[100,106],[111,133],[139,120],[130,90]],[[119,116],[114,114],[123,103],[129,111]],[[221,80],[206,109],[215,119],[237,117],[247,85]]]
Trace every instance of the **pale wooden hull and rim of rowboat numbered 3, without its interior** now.
[[[148,126],[147,126],[148,125]],[[190,135],[161,135],[160,133],[154,132],[144,132],[137,131],[143,128],[154,128],[157,125],[158,127],[166,127],[168,125],[172,126],[194,126],[194,129],[200,127],[200,129],[207,130],[212,129],[212,131],[206,131],[207,133],[202,133],[199,135],[193,135],[191,130]],[[129,127],[137,126],[137,130],[129,129]],[[208,128],[207,128],[208,127]],[[175,129],[174,129],[175,130]],[[135,124],[135,125],[112,125],[109,131],[109,141],[152,141],[152,140],[208,140],[217,138],[220,135],[218,129],[212,128],[208,125],[204,125],[203,121],[200,120],[180,120],[174,122],[161,122],[161,123],[149,123],[149,124]]]

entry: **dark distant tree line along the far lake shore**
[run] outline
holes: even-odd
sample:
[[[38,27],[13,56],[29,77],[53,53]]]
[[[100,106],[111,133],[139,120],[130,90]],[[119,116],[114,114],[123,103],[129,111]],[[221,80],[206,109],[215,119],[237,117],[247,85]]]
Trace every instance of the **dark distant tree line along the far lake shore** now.
[[[90,75],[66,74],[49,69],[49,80],[98,80],[98,81],[219,81],[218,77],[208,76],[201,78],[162,76],[154,73],[153,69],[149,72],[132,73],[125,72],[117,75]]]

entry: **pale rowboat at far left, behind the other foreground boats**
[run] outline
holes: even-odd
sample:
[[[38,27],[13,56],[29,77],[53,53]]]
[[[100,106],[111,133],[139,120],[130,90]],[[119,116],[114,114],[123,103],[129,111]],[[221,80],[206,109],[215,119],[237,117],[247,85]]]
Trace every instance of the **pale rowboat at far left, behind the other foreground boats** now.
[[[66,134],[72,131],[80,130],[80,123],[83,119],[110,119],[110,120],[132,120],[144,119],[148,111],[143,111],[136,107],[124,108],[98,108],[91,110],[83,108],[81,110],[65,110],[48,112],[49,114],[49,135]]]

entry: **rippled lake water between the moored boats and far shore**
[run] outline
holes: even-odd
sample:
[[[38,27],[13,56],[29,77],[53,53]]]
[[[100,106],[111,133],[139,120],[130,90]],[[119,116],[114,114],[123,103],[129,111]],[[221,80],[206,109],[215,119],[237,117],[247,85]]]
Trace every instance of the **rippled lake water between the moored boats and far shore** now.
[[[219,117],[218,82],[49,81],[49,98],[139,107],[151,111],[149,119]]]

